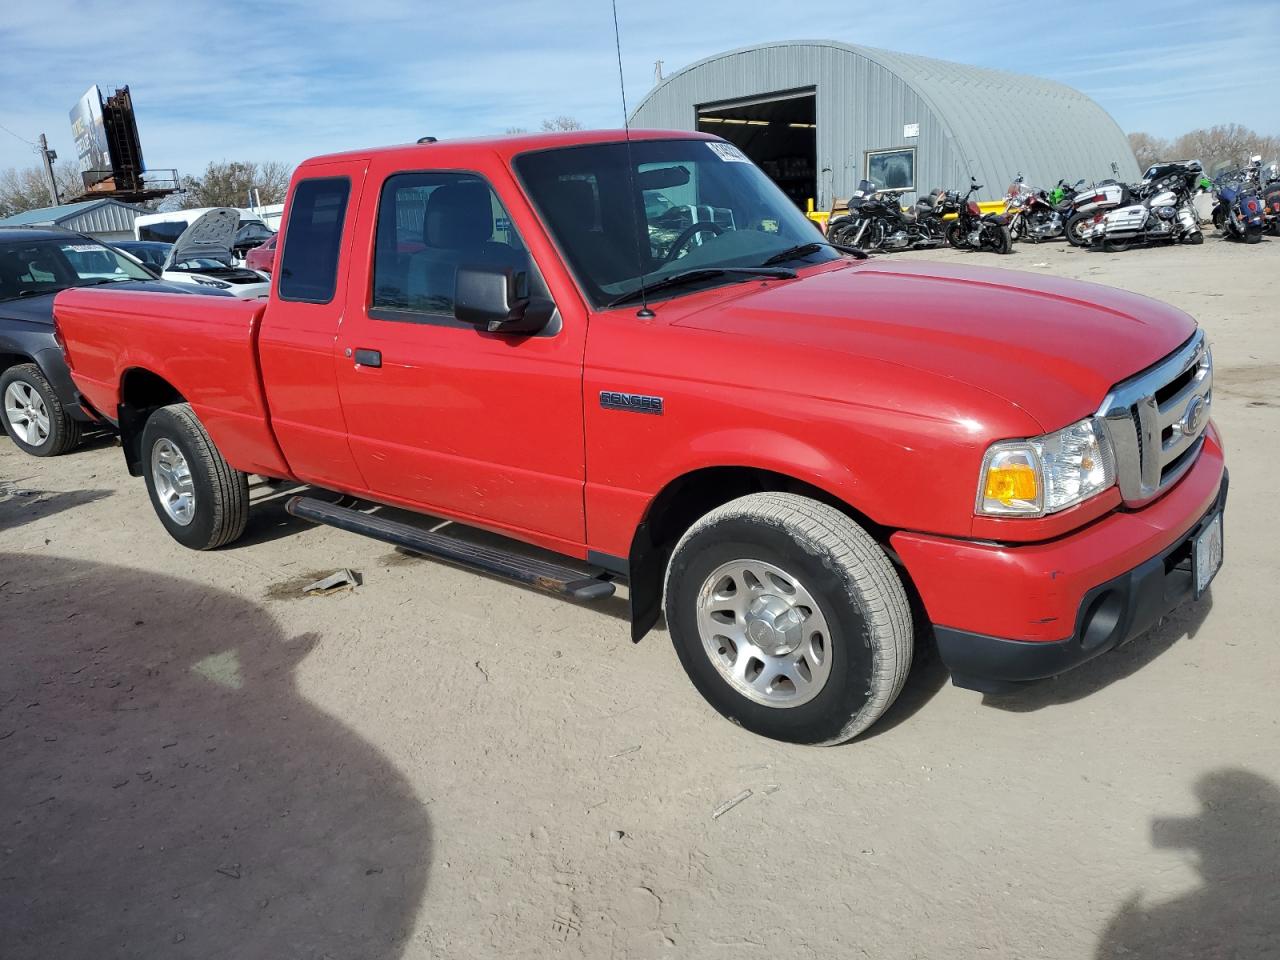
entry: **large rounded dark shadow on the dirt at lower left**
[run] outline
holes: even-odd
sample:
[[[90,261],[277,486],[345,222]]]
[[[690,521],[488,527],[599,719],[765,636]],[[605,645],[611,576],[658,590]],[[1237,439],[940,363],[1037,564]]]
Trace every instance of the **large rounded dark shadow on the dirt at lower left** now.
[[[401,956],[428,817],[298,690],[317,637],[145,571],[0,570],[6,960]]]

